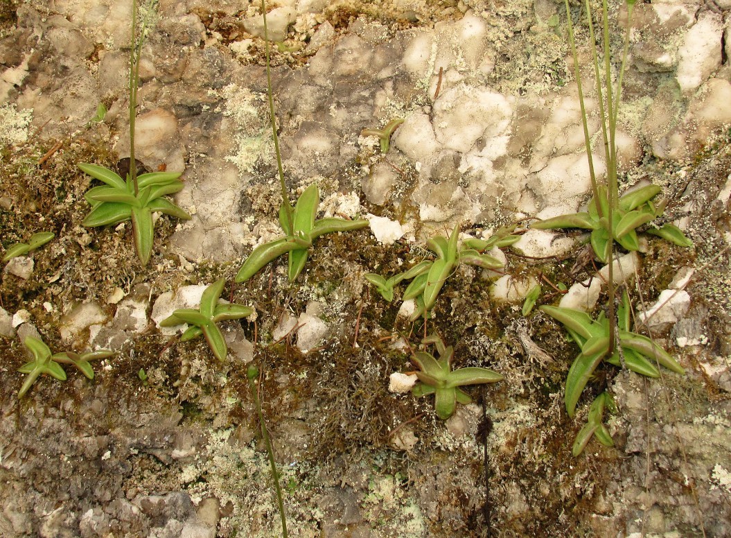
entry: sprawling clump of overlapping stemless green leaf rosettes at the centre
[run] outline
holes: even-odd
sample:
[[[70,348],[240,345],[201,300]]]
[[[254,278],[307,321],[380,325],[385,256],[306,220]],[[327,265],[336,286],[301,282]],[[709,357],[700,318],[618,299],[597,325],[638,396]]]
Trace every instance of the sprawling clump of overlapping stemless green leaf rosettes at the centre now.
[[[416,299],[417,308],[412,314],[412,321],[421,316],[427,319],[444,282],[460,263],[475,265],[483,269],[499,269],[503,266],[499,259],[485,254],[485,251],[515,243],[520,239],[520,235],[513,235],[512,231],[508,228],[501,229],[487,240],[468,238],[458,249],[459,224],[457,224],[448,238],[437,235],[427,240],[427,248],[436,254],[434,261],[423,260],[404,273],[399,273],[389,279],[376,273],[368,273],[366,280],[373,284],[381,296],[389,302],[393,300],[395,286],[401,281],[411,280],[411,284],[404,291],[402,300]]]

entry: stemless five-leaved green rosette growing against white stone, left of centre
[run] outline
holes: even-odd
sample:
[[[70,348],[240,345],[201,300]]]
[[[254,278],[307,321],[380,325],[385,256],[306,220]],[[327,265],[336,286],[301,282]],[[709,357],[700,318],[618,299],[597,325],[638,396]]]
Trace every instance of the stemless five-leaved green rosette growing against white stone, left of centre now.
[[[226,340],[221,329],[216,325],[226,319],[241,319],[249,317],[254,309],[249,306],[235,303],[221,303],[219,298],[224,290],[224,279],[217,280],[208,286],[200,298],[200,308],[179,308],[173,315],[160,322],[160,327],[175,327],[181,323],[188,323],[190,327],[181,336],[181,341],[189,341],[199,336],[205,336],[208,346],[218,360],[225,360],[228,354]]]

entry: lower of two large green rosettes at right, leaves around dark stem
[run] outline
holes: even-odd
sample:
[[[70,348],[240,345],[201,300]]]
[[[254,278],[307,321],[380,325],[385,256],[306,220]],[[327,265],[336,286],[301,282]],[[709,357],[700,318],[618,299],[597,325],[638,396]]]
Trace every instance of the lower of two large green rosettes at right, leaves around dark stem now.
[[[631,311],[629,295],[626,292],[624,292],[622,303],[617,311],[618,349],[614,350],[610,349],[611,324],[610,320],[605,317],[604,311],[594,320],[586,312],[572,308],[548,305],[538,308],[561,322],[581,349],[580,354],[569,368],[566,380],[564,401],[569,417],[574,416],[580,395],[602,360],[617,366],[624,363],[630,370],[648,377],[660,376],[655,363],[659,363],[677,374],[685,374],[683,367],[662,347],[646,336],[629,331]],[[607,355],[609,356],[607,357]]]

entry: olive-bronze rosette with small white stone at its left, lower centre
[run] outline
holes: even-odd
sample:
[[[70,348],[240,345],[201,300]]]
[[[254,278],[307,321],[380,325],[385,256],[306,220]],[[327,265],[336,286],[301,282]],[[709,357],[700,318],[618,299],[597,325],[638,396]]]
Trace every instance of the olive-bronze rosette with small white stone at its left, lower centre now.
[[[434,395],[436,416],[447,420],[455,412],[457,404],[471,404],[472,398],[461,390],[468,384],[495,383],[503,376],[488,368],[458,368],[452,370],[452,359],[455,352],[452,346],[444,346],[440,336],[432,335],[424,338],[424,346],[435,344],[439,359],[425,351],[417,351],[412,361],[420,368],[416,375],[420,383],[414,385],[414,396]]]

